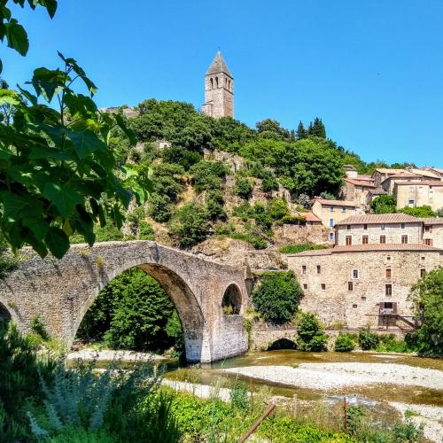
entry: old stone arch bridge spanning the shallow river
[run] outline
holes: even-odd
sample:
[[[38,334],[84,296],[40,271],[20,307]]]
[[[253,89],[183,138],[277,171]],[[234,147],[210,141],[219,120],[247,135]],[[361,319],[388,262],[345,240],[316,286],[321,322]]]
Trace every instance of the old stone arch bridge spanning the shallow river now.
[[[243,312],[245,269],[221,265],[152,241],[73,245],[61,260],[26,260],[0,281],[0,304],[19,330],[39,316],[48,332],[68,346],[98,291],[128,268],[142,268],[167,291],[182,322],[188,361],[221,360],[247,351]],[[224,315],[229,299],[234,315]]]

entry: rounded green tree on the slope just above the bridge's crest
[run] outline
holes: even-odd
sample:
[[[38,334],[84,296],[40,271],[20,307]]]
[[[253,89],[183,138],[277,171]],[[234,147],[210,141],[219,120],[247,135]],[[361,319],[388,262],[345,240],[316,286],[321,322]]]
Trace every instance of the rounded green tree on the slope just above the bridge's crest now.
[[[171,221],[171,231],[183,248],[197,245],[208,234],[211,224],[206,206],[190,202],[182,206]]]

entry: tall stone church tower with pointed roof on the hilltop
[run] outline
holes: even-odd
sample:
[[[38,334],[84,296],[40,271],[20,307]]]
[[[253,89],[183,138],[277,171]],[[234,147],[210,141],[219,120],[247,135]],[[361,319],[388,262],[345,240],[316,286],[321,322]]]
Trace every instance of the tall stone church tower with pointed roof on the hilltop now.
[[[215,119],[234,117],[234,78],[220,51],[205,75],[205,105],[202,112]]]

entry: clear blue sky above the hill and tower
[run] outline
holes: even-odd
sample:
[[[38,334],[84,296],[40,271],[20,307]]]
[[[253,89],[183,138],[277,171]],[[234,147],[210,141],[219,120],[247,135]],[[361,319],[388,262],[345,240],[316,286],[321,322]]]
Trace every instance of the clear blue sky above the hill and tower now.
[[[53,20],[16,11],[31,48],[5,45],[15,84],[56,51],[97,83],[97,103],[204,101],[220,49],[235,77],[235,116],[296,128],[323,118],[328,136],[365,160],[443,167],[441,0],[59,0]]]

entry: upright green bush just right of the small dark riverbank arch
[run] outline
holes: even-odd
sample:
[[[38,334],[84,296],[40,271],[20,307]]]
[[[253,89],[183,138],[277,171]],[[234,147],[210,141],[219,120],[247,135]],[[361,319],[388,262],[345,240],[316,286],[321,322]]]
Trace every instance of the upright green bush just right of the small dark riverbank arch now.
[[[324,333],[323,326],[314,313],[299,314],[297,322],[297,346],[300,351],[320,352],[326,350],[328,336]]]

